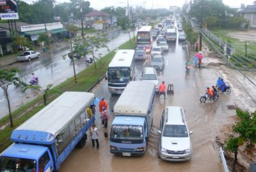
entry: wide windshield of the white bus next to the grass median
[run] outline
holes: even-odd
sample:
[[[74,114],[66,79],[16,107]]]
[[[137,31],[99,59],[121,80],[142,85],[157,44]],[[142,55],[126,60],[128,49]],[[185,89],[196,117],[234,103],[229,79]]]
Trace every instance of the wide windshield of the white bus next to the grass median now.
[[[129,67],[108,68],[108,81],[123,83],[131,81],[131,70]]]

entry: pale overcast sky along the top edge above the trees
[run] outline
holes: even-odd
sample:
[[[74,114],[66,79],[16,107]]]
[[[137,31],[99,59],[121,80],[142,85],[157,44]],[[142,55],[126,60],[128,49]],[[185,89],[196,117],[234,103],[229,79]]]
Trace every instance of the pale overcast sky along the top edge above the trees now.
[[[26,3],[31,3],[35,0],[23,0]],[[70,2],[69,0],[55,0],[57,3]],[[86,1],[86,0],[84,0]],[[100,10],[106,6],[127,6],[127,1],[129,1],[130,6],[143,6],[145,8],[168,8],[168,6],[182,6],[186,0],[88,0],[90,1],[91,7],[96,10]],[[252,4],[255,0],[222,0],[224,4],[227,4],[233,8],[239,8],[241,3],[248,5]],[[144,2],[144,3],[143,3]],[[190,0],[187,0],[189,3]]]

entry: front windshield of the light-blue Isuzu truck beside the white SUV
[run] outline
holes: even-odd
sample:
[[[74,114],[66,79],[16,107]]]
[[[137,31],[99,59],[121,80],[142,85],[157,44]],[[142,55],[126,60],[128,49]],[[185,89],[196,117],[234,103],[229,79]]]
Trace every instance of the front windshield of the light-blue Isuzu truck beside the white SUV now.
[[[119,143],[143,143],[143,128],[140,125],[113,125],[111,141]]]

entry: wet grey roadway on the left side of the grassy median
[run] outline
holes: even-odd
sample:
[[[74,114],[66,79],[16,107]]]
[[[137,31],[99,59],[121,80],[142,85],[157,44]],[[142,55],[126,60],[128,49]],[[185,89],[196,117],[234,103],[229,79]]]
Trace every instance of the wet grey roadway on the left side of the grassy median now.
[[[122,45],[122,43],[127,42],[129,35],[127,31],[117,30],[110,32],[108,38],[109,42],[107,42],[106,45],[108,45],[110,51],[113,51],[116,47]],[[66,48],[64,47],[58,51],[51,52],[41,57],[39,60],[34,59],[30,62],[15,63],[8,66],[8,68],[18,68],[20,71],[18,77],[20,77],[23,82],[28,83],[31,73],[35,73],[39,78],[39,85],[42,86],[42,88],[46,88],[48,84],[56,86],[69,77],[74,76],[72,61],[65,56],[68,52],[70,52],[70,46],[67,43]],[[96,56],[99,53],[104,56],[108,54],[108,51],[105,48],[99,49],[99,51],[95,53]],[[65,58],[63,58],[63,56],[65,56]],[[84,70],[84,68],[86,68],[85,58],[75,60],[75,68],[76,73]],[[38,92],[39,91],[32,89],[21,93],[19,89],[11,85],[8,89],[8,93],[12,111],[22,106],[22,104],[33,100],[39,94]],[[0,118],[3,118],[3,116],[8,114],[8,104],[3,90],[0,90],[0,107]]]

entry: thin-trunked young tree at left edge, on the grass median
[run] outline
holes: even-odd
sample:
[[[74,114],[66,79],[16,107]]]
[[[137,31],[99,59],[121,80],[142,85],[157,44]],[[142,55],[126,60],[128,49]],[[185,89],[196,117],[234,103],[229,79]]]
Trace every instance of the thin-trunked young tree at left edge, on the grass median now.
[[[10,100],[8,95],[8,88],[12,84],[17,88],[20,86],[26,85],[24,82],[20,81],[19,77],[16,76],[17,72],[19,72],[19,70],[15,68],[10,70],[7,70],[7,69],[0,70],[0,87],[3,89],[4,95],[8,103],[10,127],[13,127],[13,120],[12,120],[11,106],[10,106]]]

